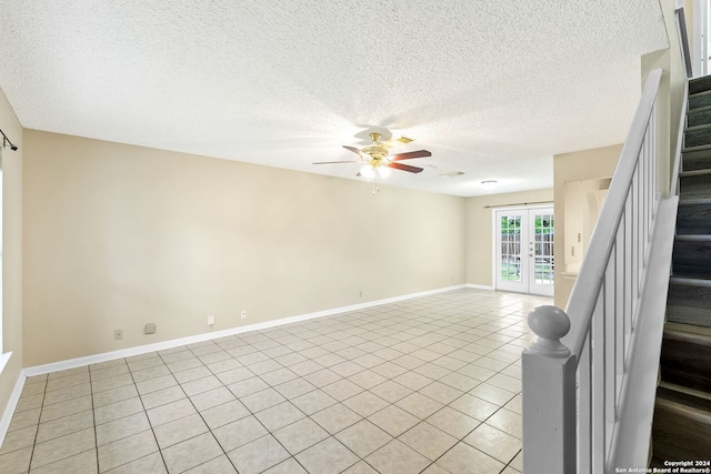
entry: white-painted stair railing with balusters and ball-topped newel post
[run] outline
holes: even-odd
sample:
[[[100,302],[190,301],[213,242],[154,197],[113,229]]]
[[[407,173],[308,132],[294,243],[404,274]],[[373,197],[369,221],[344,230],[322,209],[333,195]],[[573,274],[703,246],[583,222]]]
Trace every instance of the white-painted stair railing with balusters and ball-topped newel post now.
[[[639,395],[633,393],[630,370],[638,364],[634,352],[644,345],[637,337],[647,317],[640,317],[645,311],[645,279],[659,271],[651,268],[649,256],[661,200],[655,184],[655,99],[661,74],[654,70],[647,78],[565,311],[540,306],[529,315],[538,339],[522,355],[527,474],[614,472],[612,464],[620,462],[621,433],[630,431],[620,425],[627,420],[622,412]],[[675,203],[673,213],[675,219]],[[668,279],[671,244],[667,241],[673,241],[673,222],[663,250],[669,252]],[[665,301],[665,289],[662,292]],[[653,401],[649,428],[652,410]],[[621,467],[647,465],[647,458],[639,457],[647,453],[649,436],[639,434],[645,446],[627,445],[624,454],[632,456],[625,462],[638,460],[639,464]]]

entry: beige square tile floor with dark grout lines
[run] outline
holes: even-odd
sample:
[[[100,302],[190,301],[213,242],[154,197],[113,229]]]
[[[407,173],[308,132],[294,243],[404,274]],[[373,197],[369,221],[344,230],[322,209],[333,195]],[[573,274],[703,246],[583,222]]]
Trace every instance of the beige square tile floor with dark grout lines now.
[[[550,303],[457,290],[30,377],[0,472],[518,473]]]

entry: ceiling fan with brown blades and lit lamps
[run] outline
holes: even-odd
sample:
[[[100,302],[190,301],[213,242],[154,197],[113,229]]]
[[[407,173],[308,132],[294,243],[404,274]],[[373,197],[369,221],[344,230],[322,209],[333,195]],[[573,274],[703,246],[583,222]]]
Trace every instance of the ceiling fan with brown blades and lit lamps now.
[[[352,151],[358,154],[360,160],[346,160],[346,161],[319,161],[313,164],[333,164],[333,163],[363,163],[363,168],[357,174],[364,178],[387,178],[390,174],[390,168],[409,173],[419,173],[422,168],[412,167],[410,164],[400,163],[401,160],[411,160],[413,158],[431,157],[427,150],[410,151],[407,153],[390,154],[388,148],[389,143],[380,142],[381,134],[378,132],[370,133],[370,140],[372,144],[362,149],[343,145],[346,150]],[[412,140],[402,137],[398,139],[402,143],[409,143]]]

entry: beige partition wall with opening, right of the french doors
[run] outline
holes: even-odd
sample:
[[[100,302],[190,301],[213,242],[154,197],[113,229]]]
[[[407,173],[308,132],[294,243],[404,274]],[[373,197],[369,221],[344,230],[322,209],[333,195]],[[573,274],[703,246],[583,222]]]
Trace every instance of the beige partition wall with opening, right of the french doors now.
[[[565,258],[571,246],[579,249],[577,238],[565,236],[565,183],[610,178],[620,158],[622,145],[583,150],[553,157],[553,190],[555,194],[555,305],[565,309],[574,279],[563,276]],[[570,213],[570,210],[568,210]],[[580,208],[580,213],[583,209]],[[580,254],[575,254],[578,261]]]

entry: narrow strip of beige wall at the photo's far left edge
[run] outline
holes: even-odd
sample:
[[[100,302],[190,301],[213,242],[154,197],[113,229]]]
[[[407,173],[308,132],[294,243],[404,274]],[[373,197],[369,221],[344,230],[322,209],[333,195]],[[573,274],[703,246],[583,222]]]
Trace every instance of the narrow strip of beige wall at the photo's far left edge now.
[[[2,150],[2,352],[12,356],[0,373],[0,415],[22,370],[22,128],[0,91],[0,129],[19,149]]]

